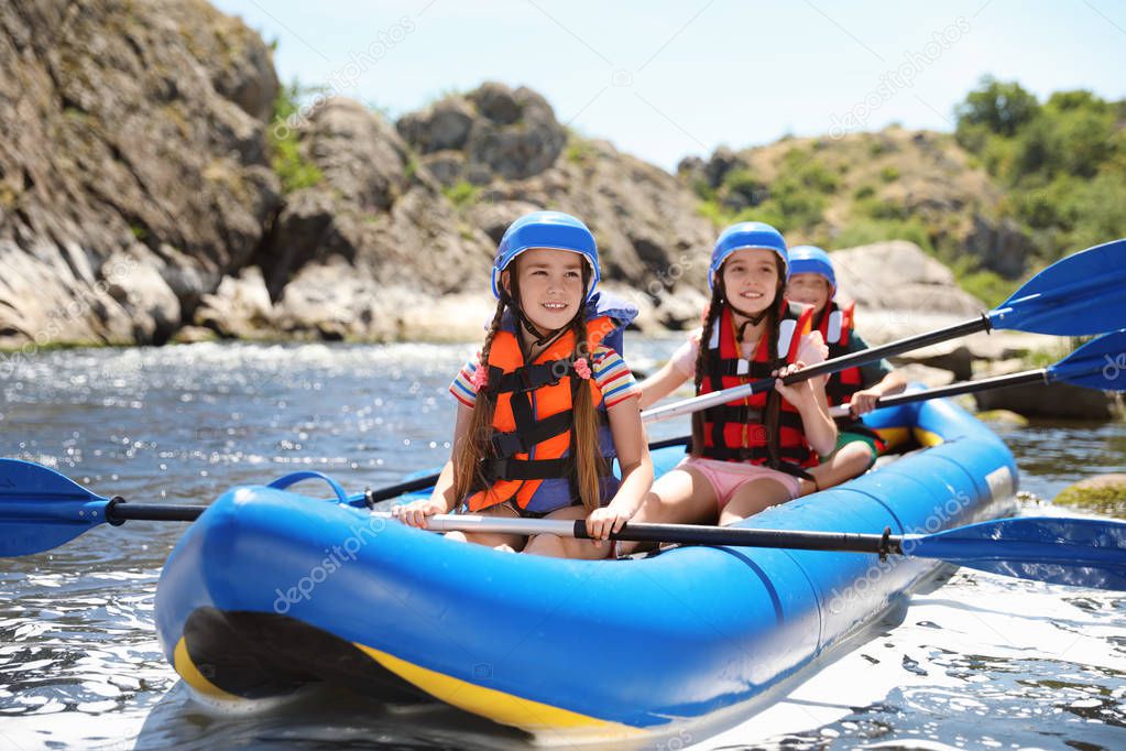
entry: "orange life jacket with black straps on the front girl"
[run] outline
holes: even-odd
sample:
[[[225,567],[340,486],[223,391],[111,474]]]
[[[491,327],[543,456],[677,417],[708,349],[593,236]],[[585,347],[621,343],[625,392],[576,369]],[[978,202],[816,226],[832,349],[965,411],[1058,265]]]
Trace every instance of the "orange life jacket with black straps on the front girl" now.
[[[588,363],[590,352],[620,325],[620,321],[605,315],[587,321]],[[584,381],[575,375],[574,333],[561,336],[529,365],[524,361],[517,336],[509,320],[497,331],[489,350],[489,383],[484,391],[495,400],[495,410],[492,450],[481,461],[489,485],[471,493],[465,504],[470,511],[480,511],[512,500],[529,516],[580,504],[571,428],[574,395],[583,387],[590,388],[598,410],[599,447],[608,473],[601,477],[601,502],[609,502],[618,486],[617,479],[609,474],[614,440],[601,391],[593,378]]]

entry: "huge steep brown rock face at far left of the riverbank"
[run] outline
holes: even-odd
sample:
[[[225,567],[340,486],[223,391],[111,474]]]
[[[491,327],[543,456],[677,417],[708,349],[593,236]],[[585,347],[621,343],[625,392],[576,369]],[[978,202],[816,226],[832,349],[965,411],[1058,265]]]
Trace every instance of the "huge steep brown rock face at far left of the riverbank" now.
[[[268,47],[203,0],[14,0],[0,70],[0,346],[167,340],[276,211]]]

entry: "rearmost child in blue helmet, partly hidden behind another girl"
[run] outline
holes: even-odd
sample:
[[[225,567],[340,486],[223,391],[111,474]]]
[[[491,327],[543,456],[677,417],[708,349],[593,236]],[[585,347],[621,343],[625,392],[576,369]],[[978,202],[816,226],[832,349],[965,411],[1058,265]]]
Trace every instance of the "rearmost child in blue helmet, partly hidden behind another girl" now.
[[[829,345],[829,357],[842,357],[867,349],[868,345],[852,329],[856,303],[840,305],[837,297],[837,275],[829,253],[813,245],[798,245],[789,251],[790,299],[813,305],[813,328]],[[839,437],[830,456],[811,471],[815,483],[803,483],[804,492],[840,484],[867,472],[885,449],[875,431],[865,427],[859,415],[870,412],[881,396],[897,394],[906,387],[903,376],[887,360],[852,367],[829,376],[825,393],[830,406],[850,404],[850,415],[838,418]],[[804,494],[804,493],[803,493]]]

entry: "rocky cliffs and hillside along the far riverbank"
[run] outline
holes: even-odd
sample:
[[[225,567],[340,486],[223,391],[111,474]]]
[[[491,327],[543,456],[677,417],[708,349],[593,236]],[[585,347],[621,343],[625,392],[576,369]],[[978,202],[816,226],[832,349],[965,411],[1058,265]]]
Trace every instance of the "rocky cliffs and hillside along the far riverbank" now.
[[[280,120],[270,50],[204,0],[14,0],[0,70],[0,348],[472,339],[495,242],[534,208],[588,222],[643,328],[698,319],[716,223],[741,212],[833,248],[872,216],[926,220],[919,244],[1024,269],[998,191],[940,134],[790,138],[671,176],[494,82],[397,123],[340,98]],[[974,306],[908,245],[856,258],[865,310],[896,311],[885,333]]]

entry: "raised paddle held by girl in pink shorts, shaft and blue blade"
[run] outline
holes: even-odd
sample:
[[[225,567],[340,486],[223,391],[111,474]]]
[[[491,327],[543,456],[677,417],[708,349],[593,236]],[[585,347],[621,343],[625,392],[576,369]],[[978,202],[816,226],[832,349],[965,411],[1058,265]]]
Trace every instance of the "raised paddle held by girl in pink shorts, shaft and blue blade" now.
[[[1126,327],[1126,239],[1088,248],[1056,261],[981,318],[825,360],[783,381],[787,385],[798,383],[993,329],[1082,337],[1123,327]],[[642,419],[646,422],[669,420],[774,388],[774,378],[762,378],[649,409],[642,412]]]

